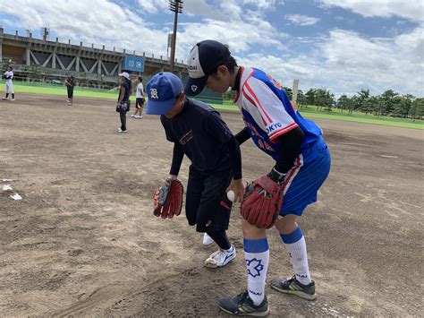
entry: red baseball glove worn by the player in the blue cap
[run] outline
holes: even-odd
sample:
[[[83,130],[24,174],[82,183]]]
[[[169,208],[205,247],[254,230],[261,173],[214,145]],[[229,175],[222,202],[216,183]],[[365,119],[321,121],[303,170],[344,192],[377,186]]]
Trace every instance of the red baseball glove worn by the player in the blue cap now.
[[[153,195],[153,214],[162,219],[172,219],[174,215],[180,215],[182,209],[182,194],[184,186],[180,180],[166,179]]]

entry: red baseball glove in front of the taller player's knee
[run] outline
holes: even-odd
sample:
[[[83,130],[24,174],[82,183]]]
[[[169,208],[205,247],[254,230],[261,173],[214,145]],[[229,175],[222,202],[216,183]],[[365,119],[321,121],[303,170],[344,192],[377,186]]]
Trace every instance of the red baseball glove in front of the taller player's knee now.
[[[283,205],[283,187],[271,177],[260,176],[244,189],[243,219],[258,228],[272,228]]]

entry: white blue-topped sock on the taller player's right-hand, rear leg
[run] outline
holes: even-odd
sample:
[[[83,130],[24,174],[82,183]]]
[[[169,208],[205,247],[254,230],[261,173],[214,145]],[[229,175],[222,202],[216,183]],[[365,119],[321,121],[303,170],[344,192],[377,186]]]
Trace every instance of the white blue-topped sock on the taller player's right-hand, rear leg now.
[[[308,265],[305,237],[301,233],[301,228],[298,227],[287,235],[280,233],[280,236],[292,260],[296,279],[303,285],[309,285],[311,282],[310,267]]]

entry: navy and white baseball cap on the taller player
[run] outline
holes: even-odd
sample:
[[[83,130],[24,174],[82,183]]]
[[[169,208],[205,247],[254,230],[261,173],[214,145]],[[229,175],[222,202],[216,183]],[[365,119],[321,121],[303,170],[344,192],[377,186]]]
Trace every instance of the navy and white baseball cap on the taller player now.
[[[187,61],[189,81],[185,84],[184,93],[198,95],[205,88],[208,76],[216,72],[217,66],[225,64],[230,56],[228,47],[212,39],[201,41],[191,48]]]

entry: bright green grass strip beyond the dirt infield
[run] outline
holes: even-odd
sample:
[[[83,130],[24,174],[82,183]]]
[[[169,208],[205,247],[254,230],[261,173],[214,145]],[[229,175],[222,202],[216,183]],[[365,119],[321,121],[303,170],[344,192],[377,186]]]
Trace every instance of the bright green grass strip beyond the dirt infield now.
[[[4,90],[4,85],[2,85]],[[39,95],[62,95],[66,96],[66,88],[64,86],[55,86],[49,84],[41,83],[25,83],[25,82],[14,82],[13,88],[16,93],[30,93],[30,94],[39,94]],[[117,99],[116,90],[94,90],[94,89],[84,89],[81,87],[76,87],[74,90],[74,96],[76,99],[78,97],[89,98],[89,99]],[[132,96],[131,100],[135,100],[135,97]],[[218,110],[238,112],[239,109],[232,104],[210,104],[212,107],[215,107]],[[300,109],[302,116],[310,118],[323,118],[323,119],[334,119],[342,120],[346,122],[356,122],[356,123],[366,123],[374,125],[386,125],[394,127],[404,127],[404,128],[413,128],[413,129],[424,129],[424,120],[416,120],[413,122],[411,119],[406,118],[394,118],[389,116],[377,116],[368,115],[354,112],[353,114],[341,113],[340,110],[333,110],[328,113],[326,111],[317,111],[316,107],[303,107]]]

